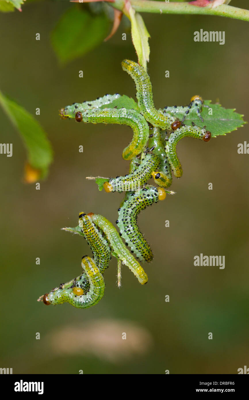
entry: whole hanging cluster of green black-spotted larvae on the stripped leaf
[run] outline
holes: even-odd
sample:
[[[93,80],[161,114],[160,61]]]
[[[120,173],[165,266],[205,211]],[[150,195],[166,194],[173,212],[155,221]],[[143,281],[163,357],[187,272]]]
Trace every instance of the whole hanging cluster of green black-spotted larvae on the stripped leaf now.
[[[139,231],[137,215],[147,206],[165,199],[165,188],[172,183],[171,170],[177,178],[182,175],[176,153],[179,140],[190,136],[208,142],[211,138],[211,133],[204,128],[193,123],[192,126],[184,124],[188,114],[195,118],[197,114],[202,120],[203,101],[200,96],[193,96],[190,104],[185,107],[157,110],[149,75],[143,67],[124,60],[122,68],[135,82],[139,111],[112,108],[112,102],[118,100],[120,94],[106,94],[102,98],[74,103],[60,110],[63,119],[74,118],[77,122],[94,124],[125,124],[133,130],[133,138],[122,154],[125,160],[130,160],[129,174],[103,178],[106,192],[125,192],[116,221],[120,232],[105,217],[80,212],[78,226],[64,230],[83,236],[92,250],[93,258],[84,256],[80,276],[60,284],[38,299],[46,305],[68,302],[77,308],[88,308],[97,304],[104,295],[103,273],[108,268],[111,256],[118,259],[119,285],[121,263],[133,272],[141,284],[147,283],[147,275],[137,260],[150,262],[153,254]],[[181,121],[177,118],[178,114],[184,114]],[[157,186],[147,184],[151,177]]]

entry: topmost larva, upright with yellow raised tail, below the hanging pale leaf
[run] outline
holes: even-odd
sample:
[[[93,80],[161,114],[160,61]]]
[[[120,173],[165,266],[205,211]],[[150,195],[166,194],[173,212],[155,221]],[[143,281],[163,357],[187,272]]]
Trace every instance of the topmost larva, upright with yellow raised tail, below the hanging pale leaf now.
[[[130,60],[122,61],[122,68],[135,82],[139,110],[143,114],[145,120],[161,129],[170,129],[175,118],[155,108],[151,82],[144,68]]]

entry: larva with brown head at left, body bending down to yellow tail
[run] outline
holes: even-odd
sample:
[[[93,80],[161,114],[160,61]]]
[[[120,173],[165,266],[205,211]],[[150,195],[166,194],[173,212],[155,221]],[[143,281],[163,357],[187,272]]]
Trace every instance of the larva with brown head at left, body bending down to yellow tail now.
[[[144,117],[135,110],[126,110],[126,108],[90,108],[72,114],[64,110],[64,117],[75,118],[77,122],[92,122],[93,124],[120,124],[128,125],[133,130],[133,138],[129,145],[123,150],[123,158],[131,160],[137,154],[141,153],[149,138],[149,127]]]

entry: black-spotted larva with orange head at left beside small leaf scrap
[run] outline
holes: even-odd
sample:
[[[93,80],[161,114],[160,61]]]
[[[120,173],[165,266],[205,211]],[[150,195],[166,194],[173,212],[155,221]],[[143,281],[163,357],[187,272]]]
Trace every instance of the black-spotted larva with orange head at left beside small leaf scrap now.
[[[147,154],[135,171],[129,175],[110,178],[108,182],[104,183],[104,189],[106,192],[136,192],[147,183],[159,164],[159,158],[155,154]]]

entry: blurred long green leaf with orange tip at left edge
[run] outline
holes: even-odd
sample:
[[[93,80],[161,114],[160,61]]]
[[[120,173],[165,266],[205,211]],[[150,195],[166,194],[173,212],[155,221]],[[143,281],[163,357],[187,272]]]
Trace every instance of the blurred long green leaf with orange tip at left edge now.
[[[0,105],[19,131],[28,151],[25,181],[34,182],[38,172],[39,177],[44,178],[53,159],[52,147],[46,133],[28,111],[1,92]]]

